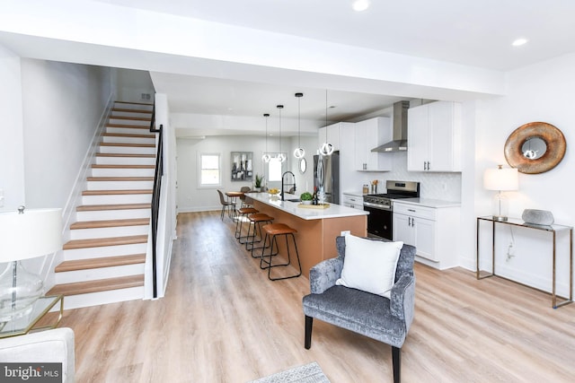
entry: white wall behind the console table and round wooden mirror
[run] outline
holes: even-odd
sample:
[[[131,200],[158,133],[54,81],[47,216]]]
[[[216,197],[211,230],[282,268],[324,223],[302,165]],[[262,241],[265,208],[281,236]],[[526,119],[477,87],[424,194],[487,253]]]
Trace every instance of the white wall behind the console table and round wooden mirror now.
[[[572,203],[574,158],[570,151],[575,140],[575,115],[572,112],[572,90],[575,88],[575,55],[559,57],[530,65],[508,74],[508,95],[497,100],[476,103],[475,177],[464,179],[464,190],[473,188],[475,211],[466,212],[464,231],[474,230],[476,215],[489,215],[492,192],[482,189],[482,173],[497,164],[507,165],[503,148],[507,137],[528,122],[543,121],[558,127],[567,141],[567,152],[562,162],[553,170],[542,174],[519,173],[519,190],[509,193],[509,215],[520,217],[526,208],[549,210],[555,222],[564,225],[575,223],[575,205]],[[473,187],[470,187],[470,185]],[[511,238],[513,234],[513,238]],[[565,236],[564,236],[565,237]],[[567,280],[567,238],[559,238],[558,281],[565,292]],[[509,241],[514,240],[516,257],[496,261],[501,274],[526,283],[534,283],[549,291],[551,288],[550,234],[541,235],[517,228],[503,227],[498,231],[498,252],[505,255]],[[475,264],[474,243],[464,244],[462,264]],[[483,245],[484,240],[482,241]],[[484,244],[483,248],[489,248]]]

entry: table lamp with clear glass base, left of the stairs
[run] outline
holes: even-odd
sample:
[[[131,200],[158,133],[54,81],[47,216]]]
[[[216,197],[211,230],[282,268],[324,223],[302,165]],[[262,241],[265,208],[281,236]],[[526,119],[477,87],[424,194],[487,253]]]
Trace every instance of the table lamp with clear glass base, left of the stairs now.
[[[0,275],[0,322],[29,314],[44,293],[40,276],[20,261],[62,248],[61,209],[24,210],[0,213],[0,263],[9,262]]]

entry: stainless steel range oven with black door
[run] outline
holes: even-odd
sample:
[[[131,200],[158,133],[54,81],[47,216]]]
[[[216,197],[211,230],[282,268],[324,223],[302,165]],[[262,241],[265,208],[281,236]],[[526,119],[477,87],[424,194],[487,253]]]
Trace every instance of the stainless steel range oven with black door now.
[[[394,239],[394,199],[420,196],[420,183],[412,181],[386,181],[385,194],[363,197],[363,210],[367,215],[367,236]]]

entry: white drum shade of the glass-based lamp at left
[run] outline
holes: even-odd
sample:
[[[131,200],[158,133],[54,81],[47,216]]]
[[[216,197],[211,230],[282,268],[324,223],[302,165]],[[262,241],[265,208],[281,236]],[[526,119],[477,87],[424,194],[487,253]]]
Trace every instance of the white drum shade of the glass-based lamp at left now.
[[[0,213],[0,263],[46,256],[61,248],[61,209]]]

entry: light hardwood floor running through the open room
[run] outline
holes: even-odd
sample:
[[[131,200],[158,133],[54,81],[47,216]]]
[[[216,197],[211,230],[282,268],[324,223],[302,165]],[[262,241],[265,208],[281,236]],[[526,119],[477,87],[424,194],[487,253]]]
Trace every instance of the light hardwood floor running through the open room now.
[[[575,381],[575,305],[461,269],[415,267],[403,382]],[[181,213],[162,300],[67,310],[76,381],[246,382],[317,361],[332,383],[391,382],[391,350],[319,320],[304,348],[305,277],[270,282],[219,212]]]

